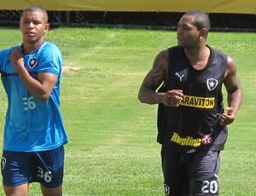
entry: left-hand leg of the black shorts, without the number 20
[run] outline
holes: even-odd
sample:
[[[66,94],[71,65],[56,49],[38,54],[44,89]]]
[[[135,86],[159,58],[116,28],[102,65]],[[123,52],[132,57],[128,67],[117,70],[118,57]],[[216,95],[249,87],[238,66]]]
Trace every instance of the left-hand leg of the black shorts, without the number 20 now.
[[[187,192],[187,178],[180,153],[171,147],[162,146],[161,160],[166,195],[184,195]]]

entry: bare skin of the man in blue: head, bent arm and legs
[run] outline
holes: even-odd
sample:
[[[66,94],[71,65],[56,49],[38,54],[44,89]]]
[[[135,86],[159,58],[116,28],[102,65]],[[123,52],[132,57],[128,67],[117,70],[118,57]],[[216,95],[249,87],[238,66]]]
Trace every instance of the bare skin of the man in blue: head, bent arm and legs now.
[[[52,89],[57,82],[57,77],[49,72],[39,72],[38,80],[32,78],[23,66],[23,54],[30,54],[32,51],[39,49],[44,43],[44,33],[49,31],[47,15],[42,11],[25,11],[20,19],[20,31],[23,35],[23,49],[16,48],[9,55],[9,59],[19,74],[26,89],[38,100],[47,101]],[[19,186],[4,186],[4,192],[7,196],[28,195],[29,184]],[[62,186],[48,188],[41,185],[41,190],[45,196],[61,196]]]

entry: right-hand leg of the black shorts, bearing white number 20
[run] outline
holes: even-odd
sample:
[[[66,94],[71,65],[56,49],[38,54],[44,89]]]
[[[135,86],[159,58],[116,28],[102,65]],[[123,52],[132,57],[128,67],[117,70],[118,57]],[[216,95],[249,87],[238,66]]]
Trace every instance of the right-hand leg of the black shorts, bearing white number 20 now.
[[[189,189],[192,195],[218,195],[218,151],[195,153],[188,163]]]

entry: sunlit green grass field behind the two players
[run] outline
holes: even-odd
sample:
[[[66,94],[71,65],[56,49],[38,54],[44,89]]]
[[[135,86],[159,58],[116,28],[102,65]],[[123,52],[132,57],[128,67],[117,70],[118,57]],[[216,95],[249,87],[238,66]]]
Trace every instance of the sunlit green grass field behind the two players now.
[[[0,49],[21,42],[18,29],[1,28],[0,34]],[[156,142],[157,106],[140,103],[137,91],[154,56],[177,44],[176,32],[60,28],[48,32],[45,39],[56,43],[64,56],[61,110],[70,139],[64,195],[164,195]],[[243,105],[221,153],[220,195],[253,196],[256,33],[210,32],[207,43],[235,59],[244,90]],[[0,96],[3,127],[2,86]],[[2,136],[0,140],[2,147]],[[30,191],[32,196],[40,195],[36,183]]]

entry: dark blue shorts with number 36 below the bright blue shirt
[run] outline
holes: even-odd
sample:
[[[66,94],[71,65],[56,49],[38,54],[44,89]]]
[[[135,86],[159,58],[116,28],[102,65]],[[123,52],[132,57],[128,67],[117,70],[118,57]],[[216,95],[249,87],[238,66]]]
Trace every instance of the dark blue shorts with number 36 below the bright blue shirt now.
[[[3,151],[1,169],[3,186],[39,182],[44,187],[58,187],[63,181],[64,147],[42,152]]]

